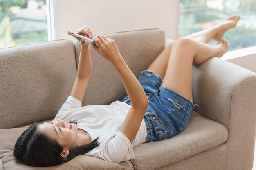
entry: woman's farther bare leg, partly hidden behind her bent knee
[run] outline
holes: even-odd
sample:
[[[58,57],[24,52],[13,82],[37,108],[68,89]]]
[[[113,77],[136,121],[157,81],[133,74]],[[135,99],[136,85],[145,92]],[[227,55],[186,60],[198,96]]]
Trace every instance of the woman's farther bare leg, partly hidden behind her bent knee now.
[[[188,35],[188,37],[197,39],[198,41],[202,41],[204,43],[208,43],[211,39],[220,41],[227,30],[236,27],[239,19],[239,15],[232,15],[227,19],[227,21],[206,30],[199,31],[198,33]],[[153,63],[151,63],[147,70],[151,70],[164,78],[172,47],[173,43],[170,44],[170,46],[168,46],[168,48],[166,48],[161,54],[159,54],[159,56],[155,59],[155,61],[153,61]]]

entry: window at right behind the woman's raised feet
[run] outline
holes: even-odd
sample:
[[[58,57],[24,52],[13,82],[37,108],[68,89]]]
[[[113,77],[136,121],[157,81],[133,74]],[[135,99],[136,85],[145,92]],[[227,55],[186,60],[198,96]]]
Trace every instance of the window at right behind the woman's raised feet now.
[[[256,46],[255,0],[180,0],[179,37],[213,26],[234,14],[241,19],[236,29],[225,33],[229,51]]]

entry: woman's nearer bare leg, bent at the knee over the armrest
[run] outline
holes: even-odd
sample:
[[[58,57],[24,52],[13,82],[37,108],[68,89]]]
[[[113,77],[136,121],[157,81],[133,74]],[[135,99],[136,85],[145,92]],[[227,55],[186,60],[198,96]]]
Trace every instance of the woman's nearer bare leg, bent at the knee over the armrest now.
[[[193,100],[192,65],[200,64],[213,56],[221,57],[228,48],[229,45],[224,39],[215,46],[209,46],[190,37],[177,39],[172,45],[162,86]]]

